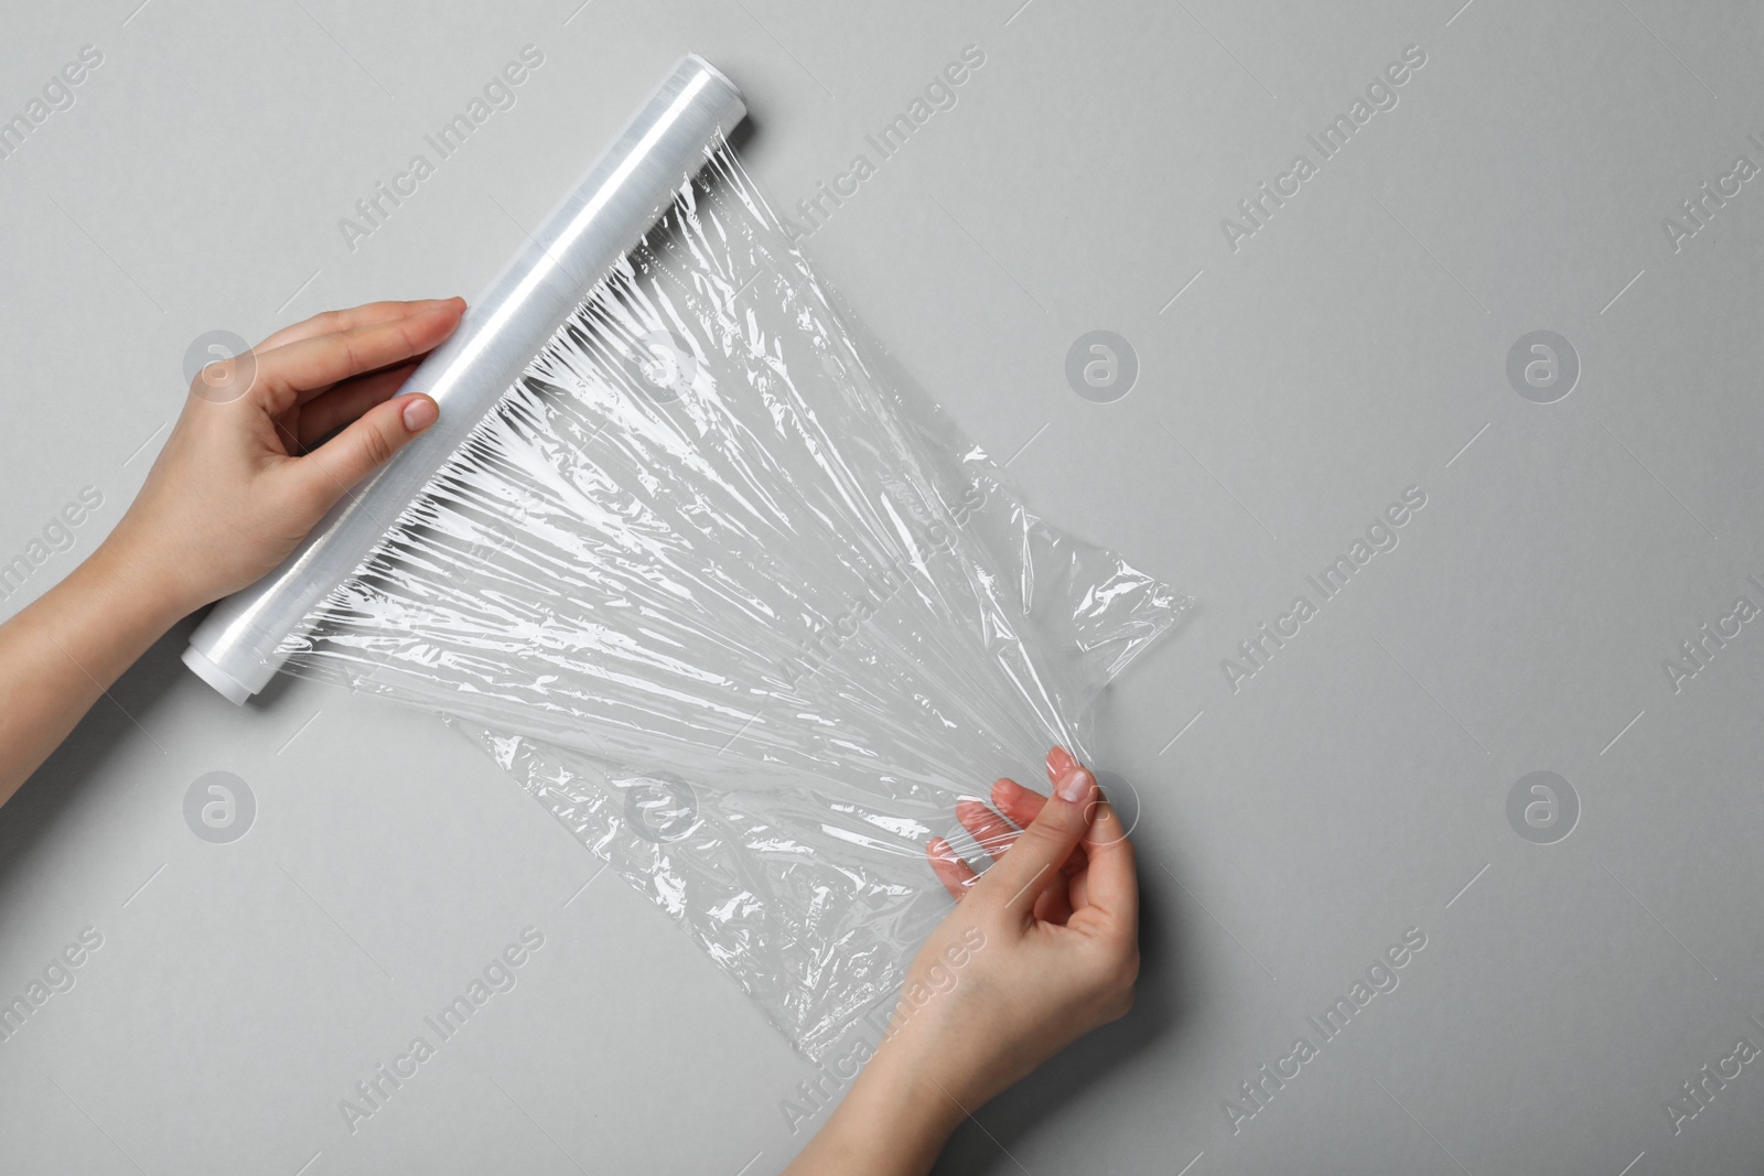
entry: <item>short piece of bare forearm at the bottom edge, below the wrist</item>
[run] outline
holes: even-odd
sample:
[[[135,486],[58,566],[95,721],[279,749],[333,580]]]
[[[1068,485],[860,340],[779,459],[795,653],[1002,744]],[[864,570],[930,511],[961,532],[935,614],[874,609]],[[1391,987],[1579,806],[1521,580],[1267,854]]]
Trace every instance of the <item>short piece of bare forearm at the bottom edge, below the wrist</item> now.
[[[961,1107],[908,1051],[887,1042],[845,1093],[787,1176],[924,1176],[937,1164]]]

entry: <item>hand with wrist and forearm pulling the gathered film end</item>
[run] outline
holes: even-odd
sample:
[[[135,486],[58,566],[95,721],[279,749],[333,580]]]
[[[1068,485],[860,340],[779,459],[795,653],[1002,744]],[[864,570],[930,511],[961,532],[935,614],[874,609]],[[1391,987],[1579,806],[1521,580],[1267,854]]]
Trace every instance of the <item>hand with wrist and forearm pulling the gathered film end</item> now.
[[[924,1172],[949,1132],[1055,1053],[1132,1007],[1140,890],[1132,845],[1095,778],[1062,748],[1053,795],[1011,779],[958,818],[984,875],[937,837],[960,901],[907,973],[887,1038],[792,1172]]]

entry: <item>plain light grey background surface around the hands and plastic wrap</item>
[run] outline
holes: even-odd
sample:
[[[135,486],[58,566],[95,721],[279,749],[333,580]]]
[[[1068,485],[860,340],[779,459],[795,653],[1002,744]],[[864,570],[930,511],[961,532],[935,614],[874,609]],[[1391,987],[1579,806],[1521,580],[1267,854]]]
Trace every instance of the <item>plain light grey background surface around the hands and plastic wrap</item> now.
[[[115,524],[199,333],[475,294],[686,49],[790,210],[975,44],[806,249],[1050,518],[1201,605],[1108,714],[1140,1003],[946,1171],[1759,1169],[1764,1065],[1678,1134],[1665,1102],[1764,1046],[1764,636],[1678,693],[1663,661],[1764,605],[1764,182],[1662,229],[1764,164],[1757,4],[138,4],[14,0],[0,39],[7,116],[104,53],[0,160],[0,555],[104,501],[5,614]],[[524,44],[519,104],[351,252],[337,219]],[[1221,219],[1411,44],[1399,106],[1233,252]],[[1064,377],[1092,330],[1138,354],[1113,404]],[[1533,330],[1581,358],[1556,404],[1506,383]],[[1233,691],[1221,661],[1408,487],[1401,545]],[[309,682],[233,709],[185,633],[0,811],[0,994],[102,934],[0,1044],[0,1169],[789,1162],[811,1067],[487,758]],[[1554,845],[1506,820],[1533,770],[1581,800]],[[256,797],[229,845],[185,825],[206,772]],[[339,1100],[527,926],[519,986],[349,1134]],[[1409,927],[1401,987],[1233,1134],[1222,1100]]]

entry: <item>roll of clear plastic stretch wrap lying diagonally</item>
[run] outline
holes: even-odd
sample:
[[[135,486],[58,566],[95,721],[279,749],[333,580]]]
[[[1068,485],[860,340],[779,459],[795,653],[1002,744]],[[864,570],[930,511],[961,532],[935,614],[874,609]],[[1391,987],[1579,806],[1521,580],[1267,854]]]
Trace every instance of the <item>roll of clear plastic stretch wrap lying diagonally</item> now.
[[[236,703],[268,686],[298,633],[513,384],[570,312],[667,212],[746,115],[741,92],[686,56],[526,247],[411,376],[441,418],[351,492],[275,571],[219,605],[183,663]]]

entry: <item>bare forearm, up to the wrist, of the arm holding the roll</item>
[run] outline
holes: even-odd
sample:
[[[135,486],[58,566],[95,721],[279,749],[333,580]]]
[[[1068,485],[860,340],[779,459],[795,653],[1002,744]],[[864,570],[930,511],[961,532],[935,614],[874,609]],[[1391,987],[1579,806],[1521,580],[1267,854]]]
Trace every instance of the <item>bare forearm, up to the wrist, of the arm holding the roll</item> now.
[[[106,543],[0,624],[0,804],[182,615]]]

